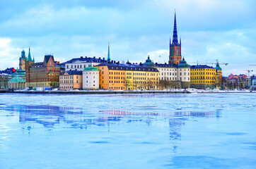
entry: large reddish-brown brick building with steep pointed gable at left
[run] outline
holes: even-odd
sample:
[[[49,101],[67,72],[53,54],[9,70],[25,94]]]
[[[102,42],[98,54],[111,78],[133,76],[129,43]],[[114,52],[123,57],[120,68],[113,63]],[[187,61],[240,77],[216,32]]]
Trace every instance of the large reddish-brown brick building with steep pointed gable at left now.
[[[26,87],[59,87],[61,65],[52,55],[45,55],[44,61],[39,63],[28,57],[25,72]]]

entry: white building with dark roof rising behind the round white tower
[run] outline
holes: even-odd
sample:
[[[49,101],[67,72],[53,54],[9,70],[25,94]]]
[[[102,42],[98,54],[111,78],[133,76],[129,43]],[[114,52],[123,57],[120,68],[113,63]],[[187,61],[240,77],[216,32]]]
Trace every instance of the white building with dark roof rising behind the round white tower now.
[[[72,58],[70,61],[67,61],[65,64],[65,71],[68,70],[78,70],[83,71],[84,68],[88,68],[90,66],[95,66],[100,63],[107,63],[107,60],[105,58],[93,58],[91,57],[83,57],[80,58]]]

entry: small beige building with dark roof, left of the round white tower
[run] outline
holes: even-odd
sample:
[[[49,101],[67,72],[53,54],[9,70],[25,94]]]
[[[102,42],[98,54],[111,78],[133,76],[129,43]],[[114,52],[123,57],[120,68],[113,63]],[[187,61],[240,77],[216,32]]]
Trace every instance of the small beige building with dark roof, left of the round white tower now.
[[[59,75],[60,90],[81,89],[82,82],[82,71],[68,70]]]

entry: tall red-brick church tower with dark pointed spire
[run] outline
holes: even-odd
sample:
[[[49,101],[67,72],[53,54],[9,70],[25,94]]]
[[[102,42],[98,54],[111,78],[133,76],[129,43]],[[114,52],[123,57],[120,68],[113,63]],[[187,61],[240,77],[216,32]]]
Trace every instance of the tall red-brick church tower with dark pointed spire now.
[[[178,42],[178,32],[176,24],[176,13],[174,14],[173,42],[170,41],[169,64],[178,65],[182,59],[181,56],[181,39]]]

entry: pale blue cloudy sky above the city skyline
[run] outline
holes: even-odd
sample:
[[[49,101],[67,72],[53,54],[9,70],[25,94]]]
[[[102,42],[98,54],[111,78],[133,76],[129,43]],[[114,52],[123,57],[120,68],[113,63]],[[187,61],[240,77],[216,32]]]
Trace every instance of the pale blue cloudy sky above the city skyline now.
[[[24,49],[35,62],[80,56],[168,63],[174,13],[187,63],[216,59],[223,75],[256,74],[256,1],[253,0],[1,0],[0,70],[18,68]]]

